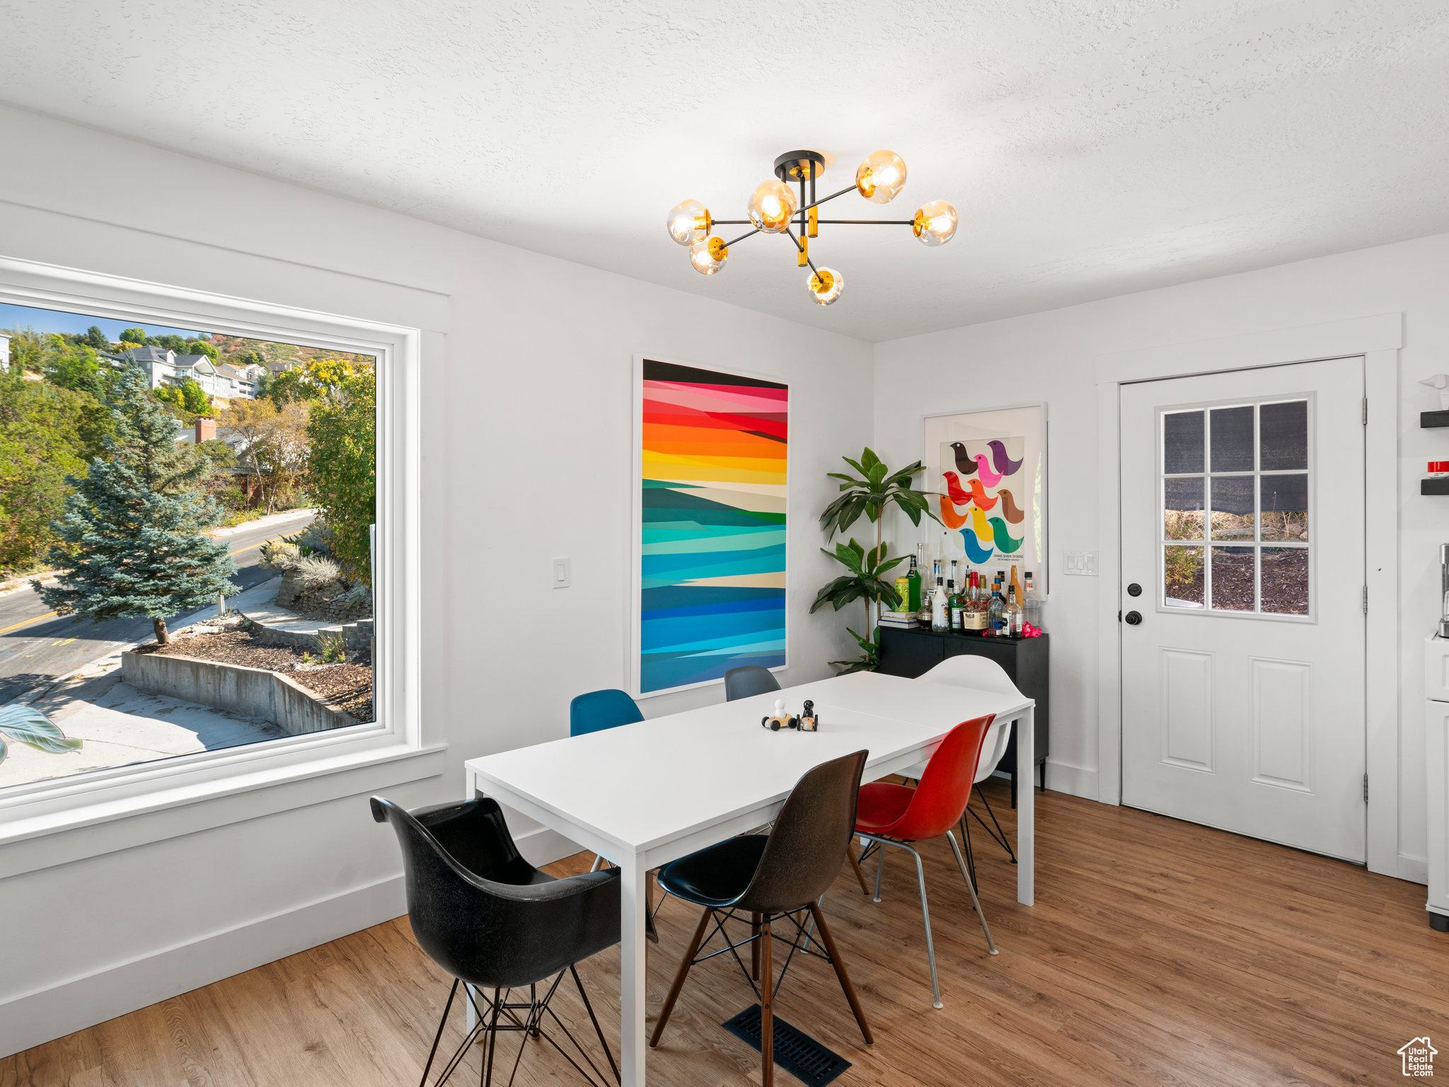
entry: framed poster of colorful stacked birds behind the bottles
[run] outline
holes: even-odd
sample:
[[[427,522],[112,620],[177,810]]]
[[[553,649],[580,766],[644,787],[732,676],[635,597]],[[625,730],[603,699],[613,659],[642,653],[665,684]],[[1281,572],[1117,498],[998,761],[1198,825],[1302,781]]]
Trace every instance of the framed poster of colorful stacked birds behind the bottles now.
[[[926,417],[926,480],[946,535],[940,557],[1037,571],[1046,587],[1045,409]],[[939,532],[939,528],[938,528]]]

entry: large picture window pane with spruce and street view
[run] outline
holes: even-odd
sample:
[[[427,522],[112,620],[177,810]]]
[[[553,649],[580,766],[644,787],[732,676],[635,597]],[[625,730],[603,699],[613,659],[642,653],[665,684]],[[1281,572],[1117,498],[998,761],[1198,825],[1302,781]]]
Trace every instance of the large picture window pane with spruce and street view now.
[[[0,303],[0,797],[400,723],[388,359],[327,341]]]

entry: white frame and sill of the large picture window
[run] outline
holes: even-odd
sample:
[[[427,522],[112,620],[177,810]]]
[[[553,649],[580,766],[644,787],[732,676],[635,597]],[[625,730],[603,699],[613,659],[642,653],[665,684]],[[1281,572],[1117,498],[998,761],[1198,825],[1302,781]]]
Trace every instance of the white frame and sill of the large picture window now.
[[[249,339],[280,341],[375,355],[378,359],[377,487],[378,555],[374,609],[374,722],[264,741],[239,748],[196,752],[130,767],[94,770],[0,790],[0,878],[49,864],[106,852],[119,845],[187,833],[194,819],[138,820],[148,826],[113,833],[93,844],[35,849],[36,838],[93,828],[97,823],[235,797],[239,793],[310,783],[278,790],[267,810],[300,807],[358,791],[358,777],[383,764],[390,775],[365,774],[378,787],[442,771],[446,745],[426,744],[419,684],[419,362],[422,332],[356,317],[319,313],[277,303],[236,299],[184,287],[0,258],[0,301],[87,313],[148,325],[204,329]],[[336,778],[335,787],[317,784]],[[230,816],[255,817],[258,809],[227,806]]]

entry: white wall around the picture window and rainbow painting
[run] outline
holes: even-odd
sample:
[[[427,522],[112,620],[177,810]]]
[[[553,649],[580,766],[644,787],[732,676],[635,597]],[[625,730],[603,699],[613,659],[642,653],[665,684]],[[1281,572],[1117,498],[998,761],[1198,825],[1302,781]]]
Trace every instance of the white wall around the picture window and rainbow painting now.
[[[461,796],[465,758],[567,735],[571,696],[625,686],[635,354],[790,383],[782,681],[849,649],[842,619],[807,609],[833,575],[824,472],[871,433],[869,345],[17,110],[0,133],[33,162],[93,164],[0,175],[3,255],[425,329],[423,717],[449,749],[440,777],[387,790],[400,801]],[[571,588],[551,588],[554,555]],[[4,944],[0,1054],[401,913],[375,787],[256,799],[245,822],[10,878],[0,851],[0,913],[25,930]]]

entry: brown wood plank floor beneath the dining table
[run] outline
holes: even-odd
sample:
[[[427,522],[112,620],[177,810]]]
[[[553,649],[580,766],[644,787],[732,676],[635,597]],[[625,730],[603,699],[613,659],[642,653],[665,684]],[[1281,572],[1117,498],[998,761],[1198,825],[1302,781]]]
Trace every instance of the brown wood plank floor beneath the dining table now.
[[[988,787],[998,813],[1007,809],[1006,790]],[[1404,1042],[1449,1041],[1449,936],[1429,928],[1423,887],[1143,812],[1037,796],[1036,907],[1016,904],[1014,870],[975,835],[995,958],[949,846],[923,848],[942,1010],[930,1006],[910,858],[887,857],[878,906],[842,871],[824,910],[875,1046],[861,1044],[822,961],[797,961],[777,1000],[777,1015],[852,1062],[840,1087],[1390,1084],[1403,1083]],[[651,1025],[694,920],[677,900],[659,913]],[[580,968],[613,1032],[617,970],[617,951]],[[401,917],[0,1059],[0,1087],[414,1084],[448,984]],[[649,1083],[758,1083],[758,1054],[720,1029],[751,1003],[729,957],[696,967],[649,1054]],[[565,991],[556,1006],[588,1029],[577,997]],[[617,1033],[611,1041],[617,1052]],[[516,1046],[516,1035],[500,1045],[510,1065]],[[478,1083],[477,1052],[452,1083]],[[516,1083],[581,1081],[529,1042]]]

